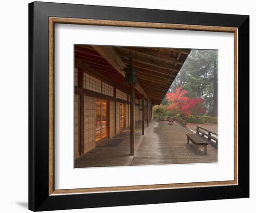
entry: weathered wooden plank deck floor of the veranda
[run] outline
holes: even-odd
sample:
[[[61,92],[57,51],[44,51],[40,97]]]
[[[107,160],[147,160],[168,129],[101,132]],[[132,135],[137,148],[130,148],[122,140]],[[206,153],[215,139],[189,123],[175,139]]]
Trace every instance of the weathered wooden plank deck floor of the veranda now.
[[[118,146],[94,148],[75,160],[75,168],[217,162],[217,149],[211,145],[207,155],[195,154],[193,144],[187,145],[187,133],[192,132],[177,123],[168,125],[167,121],[152,120],[142,136],[141,123],[137,123],[134,156],[129,155],[130,134],[126,129],[112,138],[123,139]]]

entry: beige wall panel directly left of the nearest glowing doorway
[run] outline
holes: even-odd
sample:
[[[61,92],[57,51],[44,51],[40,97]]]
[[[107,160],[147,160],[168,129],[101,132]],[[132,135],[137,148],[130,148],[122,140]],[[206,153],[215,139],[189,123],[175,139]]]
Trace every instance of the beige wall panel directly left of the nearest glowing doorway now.
[[[95,147],[95,99],[84,96],[84,153]]]

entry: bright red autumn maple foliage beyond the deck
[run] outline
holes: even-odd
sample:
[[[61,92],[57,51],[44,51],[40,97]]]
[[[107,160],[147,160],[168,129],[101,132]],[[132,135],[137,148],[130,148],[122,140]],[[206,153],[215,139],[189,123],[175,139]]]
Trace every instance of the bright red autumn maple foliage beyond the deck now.
[[[187,90],[182,90],[182,87],[175,89],[175,93],[167,93],[166,99],[171,102],[167,107],[168,110],[172,110],[175,113],[181,113],[184,118],[188,118],[190,114],[203,114],[205,109],[203,108],[204,100],[202,98],[190,99],[187,96]]]

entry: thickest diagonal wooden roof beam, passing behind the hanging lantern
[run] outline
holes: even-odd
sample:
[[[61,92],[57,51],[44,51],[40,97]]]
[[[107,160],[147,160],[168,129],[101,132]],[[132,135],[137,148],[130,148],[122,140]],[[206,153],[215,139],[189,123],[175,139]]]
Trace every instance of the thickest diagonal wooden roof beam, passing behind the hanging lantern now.
[[[92,46],[94,50],[96,50],[105,60],[108,61],[109,64],[112,65],[123,77],[125,77],[125,72],[122,71],[124,67],[126,67],[125,63],[119,57],[119,55],[115,52],[113,47],[107,46]],[[148,98],[147,93],[143,90],[143,88],[137,84],[136,89],[145,97]]]

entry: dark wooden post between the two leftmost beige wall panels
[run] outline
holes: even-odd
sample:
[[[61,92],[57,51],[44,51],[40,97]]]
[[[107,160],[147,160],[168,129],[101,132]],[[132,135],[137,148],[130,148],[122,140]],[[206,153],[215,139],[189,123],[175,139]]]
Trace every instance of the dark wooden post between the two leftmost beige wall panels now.
[[[78,70],[78,87],[83,88],[83,72],[79,69]],[[79,100],[79,155],[81,156],[84,153],[84,94],[80,94]]]

